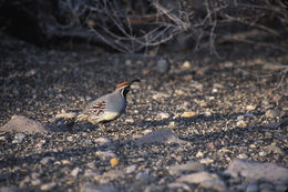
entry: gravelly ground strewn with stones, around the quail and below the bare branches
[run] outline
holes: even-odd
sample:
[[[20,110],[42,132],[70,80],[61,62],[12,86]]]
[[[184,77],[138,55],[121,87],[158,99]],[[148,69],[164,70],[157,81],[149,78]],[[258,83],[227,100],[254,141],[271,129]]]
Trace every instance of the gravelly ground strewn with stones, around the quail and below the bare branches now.
[[[0,191],[288,189],[285,54],[239,46],[166,62],[9,37],[0,50]],[[135,78],[126,113],[105,128],[54,121]]]

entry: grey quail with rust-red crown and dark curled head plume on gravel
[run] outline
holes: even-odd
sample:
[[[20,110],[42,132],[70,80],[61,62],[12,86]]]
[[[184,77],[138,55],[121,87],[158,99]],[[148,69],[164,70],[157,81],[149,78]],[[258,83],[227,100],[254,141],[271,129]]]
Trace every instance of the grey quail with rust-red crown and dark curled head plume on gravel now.
[[[140,82],[140,80],[124,81],[116,87],[114,92],[92,101],[84,111],[76,115],[75,122],[89,121],[92,124],[99,124],[121,117],[125,112],[126,94],[133,82]]]

